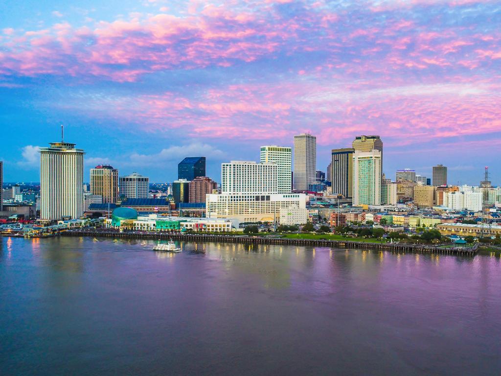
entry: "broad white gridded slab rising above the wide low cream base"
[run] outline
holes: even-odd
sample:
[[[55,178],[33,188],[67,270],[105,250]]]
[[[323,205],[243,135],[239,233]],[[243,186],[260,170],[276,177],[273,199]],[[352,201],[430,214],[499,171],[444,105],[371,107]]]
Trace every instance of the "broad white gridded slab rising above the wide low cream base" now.
[[[222,163],[221,193],[277,194],[278,164],[240,160]]]

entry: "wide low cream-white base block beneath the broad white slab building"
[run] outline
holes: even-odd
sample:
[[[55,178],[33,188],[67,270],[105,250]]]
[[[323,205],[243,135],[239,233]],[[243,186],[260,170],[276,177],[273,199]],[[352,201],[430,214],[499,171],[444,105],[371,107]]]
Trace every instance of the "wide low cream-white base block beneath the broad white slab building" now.
[[[306,208],[303,194],[221,194],[206,196],[207,218],[229,218],[239,222],[278,222],[283,208]]]

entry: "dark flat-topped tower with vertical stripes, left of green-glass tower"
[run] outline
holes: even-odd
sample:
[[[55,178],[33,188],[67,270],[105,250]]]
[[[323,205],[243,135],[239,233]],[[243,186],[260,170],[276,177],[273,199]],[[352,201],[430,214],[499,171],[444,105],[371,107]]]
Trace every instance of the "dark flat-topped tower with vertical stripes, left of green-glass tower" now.
[[[332,194],[353,197],[353,148],[332,149]]]

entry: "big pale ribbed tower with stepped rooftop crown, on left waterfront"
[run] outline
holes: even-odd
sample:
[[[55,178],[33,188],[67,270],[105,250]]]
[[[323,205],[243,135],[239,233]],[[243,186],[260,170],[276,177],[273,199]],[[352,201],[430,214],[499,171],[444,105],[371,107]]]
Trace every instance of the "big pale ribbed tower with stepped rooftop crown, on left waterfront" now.
[[[40,148],[40,218],[80,218],[83,211],[84,150],[74,143],[52,142]]]

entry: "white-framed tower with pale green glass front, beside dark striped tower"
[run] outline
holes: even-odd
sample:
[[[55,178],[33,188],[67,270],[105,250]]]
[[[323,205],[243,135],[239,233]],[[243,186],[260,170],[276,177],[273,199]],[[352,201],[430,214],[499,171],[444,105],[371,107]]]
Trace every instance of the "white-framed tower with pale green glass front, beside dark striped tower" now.
[[[381,151],[353,153],[353,205],[381,205]]]

